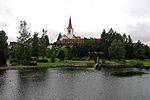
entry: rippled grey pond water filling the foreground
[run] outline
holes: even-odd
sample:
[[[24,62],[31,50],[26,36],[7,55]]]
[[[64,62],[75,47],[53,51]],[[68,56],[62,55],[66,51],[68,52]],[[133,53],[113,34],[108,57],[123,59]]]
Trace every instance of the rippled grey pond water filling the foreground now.
[[[127,77],[111,75],[125,70],[138,69],[1,71],[0,100],[149,100],[150,74]]]

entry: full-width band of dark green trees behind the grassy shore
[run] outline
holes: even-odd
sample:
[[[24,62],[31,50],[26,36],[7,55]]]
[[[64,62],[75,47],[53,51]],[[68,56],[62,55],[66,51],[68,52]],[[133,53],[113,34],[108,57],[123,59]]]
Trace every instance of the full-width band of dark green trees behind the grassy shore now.
[[[25,64],[35,58],[51,58],[55,62],[58,58],[60,61],[65,59],[93,59],[94,52],[103,52],[103,59],[149,59],[150,48],[140,40],[133,43],[130,35],[125,33],[121,35],[112,28],[106,32],[102,31],[99,39],[84,38],[83,43],[74,43],[65,46],[49,46],[47,30],[42,30],[42,36],[34,32],[33,36],[25,21],[20,21],[19,36],[17,37],[18,45],[8,49],[8,43],[5,31],[0,31],[0,65],[5,65],[7,59],[16,59],[21,64]]]

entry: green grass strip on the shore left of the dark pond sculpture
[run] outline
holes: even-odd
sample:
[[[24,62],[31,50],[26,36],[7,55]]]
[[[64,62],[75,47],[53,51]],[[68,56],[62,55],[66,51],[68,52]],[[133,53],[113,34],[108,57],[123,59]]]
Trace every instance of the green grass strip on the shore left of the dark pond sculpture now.
[[[7,66],[1,66],[0,69],[28,69],[28,68],[56,68],[56,67],[82,67],[82,68],[89,68],[93,67],[94,61],[93,60],[65,60],[59,61],[56,60],[55,63],[51,63],[51,60],[48,59],[48,62],[39,62],[37,66],[24,66],[24,65],[15,65],[12,66],[9,62]]]

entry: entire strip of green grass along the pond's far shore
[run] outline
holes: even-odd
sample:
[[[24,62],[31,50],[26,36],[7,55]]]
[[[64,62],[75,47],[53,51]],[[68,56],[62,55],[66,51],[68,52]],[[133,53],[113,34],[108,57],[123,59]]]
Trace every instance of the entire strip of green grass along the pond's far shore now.
[[[138,64],[143,64],[142,66],[136,66]],[[65,60],[59,61],[56,60],[55,63],[51,63],[51,60],[48,59],[46,63],[37,63],[37,66],[23,66],[23,65],[16,65],[11,66],[9,63],[7,66],[1,66],[0,69],[27,69],[27,68],[55,68],[55,67],[80,67],[80,68],[92,68],[94,66],[93,60]],[[103,63],[103,67],[107,68],[150,68],[150,59],[146,60],[123,60],[123,61],[116,61],[116,60],[105,60]]]

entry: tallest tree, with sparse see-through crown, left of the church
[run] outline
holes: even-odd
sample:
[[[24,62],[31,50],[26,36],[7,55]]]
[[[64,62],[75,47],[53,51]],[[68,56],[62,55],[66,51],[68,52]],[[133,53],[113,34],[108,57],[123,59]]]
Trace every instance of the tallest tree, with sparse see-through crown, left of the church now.
[[[20,36],[17,37],[19,43],[18,59],[24,64],[24,62],[29,61],[31,58],[30,32],[25,21],[20,21],[19,29]]]

